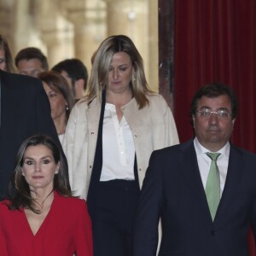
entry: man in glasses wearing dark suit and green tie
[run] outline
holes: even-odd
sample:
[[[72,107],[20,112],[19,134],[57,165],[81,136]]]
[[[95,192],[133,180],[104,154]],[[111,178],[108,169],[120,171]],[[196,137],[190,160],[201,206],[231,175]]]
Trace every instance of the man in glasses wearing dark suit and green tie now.
[[[248,255],[250,224],[256,230],[256,155],[229,143],[236,120],[232,90],[203,86],[191,116],[194,139],[151,155],[137,208],[134,256],[156,255],[160,219],[159,255]]]

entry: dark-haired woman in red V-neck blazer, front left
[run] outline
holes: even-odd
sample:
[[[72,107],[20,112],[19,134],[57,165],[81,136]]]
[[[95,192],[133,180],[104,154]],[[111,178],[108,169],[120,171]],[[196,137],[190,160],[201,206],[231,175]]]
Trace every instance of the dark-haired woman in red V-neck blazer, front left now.
[[[61,152],[45,135],[17,154],[9,201],[0,203],[1,256],[92,256],[90,217],[72,196]]]

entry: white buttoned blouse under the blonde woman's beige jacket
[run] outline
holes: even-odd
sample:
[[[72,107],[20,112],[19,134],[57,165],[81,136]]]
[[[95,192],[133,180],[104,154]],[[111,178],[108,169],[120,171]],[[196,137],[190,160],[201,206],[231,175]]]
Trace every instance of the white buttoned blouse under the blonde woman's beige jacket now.
[[[113,104],[106,103],[102,130],[101,181],[134,180],[135,146],[125,116],[118,119]]]

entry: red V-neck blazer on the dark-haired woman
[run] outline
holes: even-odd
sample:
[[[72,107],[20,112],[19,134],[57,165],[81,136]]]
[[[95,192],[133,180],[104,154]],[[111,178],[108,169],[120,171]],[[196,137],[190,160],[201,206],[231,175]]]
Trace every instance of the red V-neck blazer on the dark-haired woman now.
[[[92,256],[90,217],[84,200],[55,198],[44,223],[34,236],[24,209],[10,211],[0,202],[1,256]]]

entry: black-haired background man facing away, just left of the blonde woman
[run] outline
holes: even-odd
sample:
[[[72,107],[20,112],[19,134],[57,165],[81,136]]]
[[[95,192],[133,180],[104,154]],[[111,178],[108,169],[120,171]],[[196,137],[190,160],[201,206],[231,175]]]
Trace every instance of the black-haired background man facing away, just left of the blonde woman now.
[[[88,72],[82,61],[79,59],[67,59],[57,63],[52,67],[52,70],[61,73],[61,75],[67,79],[76,101],[84,96]]]

